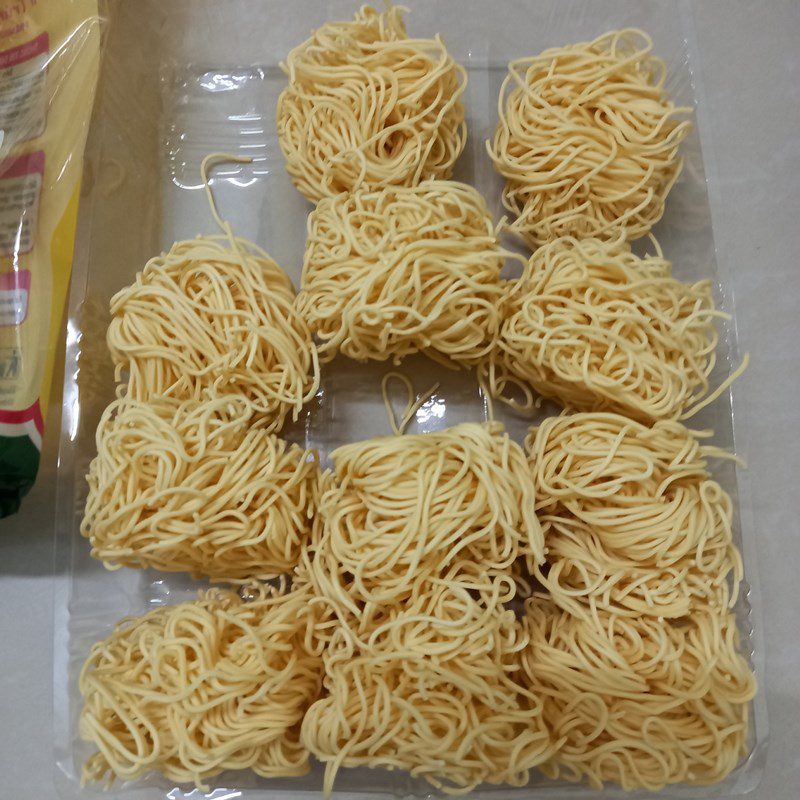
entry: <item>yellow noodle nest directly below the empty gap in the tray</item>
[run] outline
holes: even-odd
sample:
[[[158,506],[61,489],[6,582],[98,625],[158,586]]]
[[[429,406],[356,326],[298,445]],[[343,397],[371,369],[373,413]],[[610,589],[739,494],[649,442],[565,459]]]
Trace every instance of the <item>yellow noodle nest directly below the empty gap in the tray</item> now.
[[[451,580],[503,576],[544,558],[530,468],[500,423],[377,437],[335,450],[323,477],[313,579],[358,614],[397,604],[451,567]]]

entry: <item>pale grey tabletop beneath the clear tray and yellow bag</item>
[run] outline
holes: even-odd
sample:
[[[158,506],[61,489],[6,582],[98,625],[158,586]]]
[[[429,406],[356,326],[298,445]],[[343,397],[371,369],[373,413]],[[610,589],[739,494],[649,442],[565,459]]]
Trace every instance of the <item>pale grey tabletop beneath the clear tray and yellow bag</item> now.
[[[554,0],[555,1],[555,0]],[[599,0],[598,0],[599,1]],[[632,0],[633,2],[633,0]],[[720,262],[734,276],[767,642],[770,743],[753,800],[800,796],[800,2],[696,0]],[[714,168],[715,167],[715,168]],[[57,381],[59,379],[57,378]],[[39,481],[0,522],[0,798],[51,800],[58,400]],[[154,794],[155,796],[155,794]],[[657,797],[654,795],[654,797]],[[109,794],[109,798],[113,798]]]

